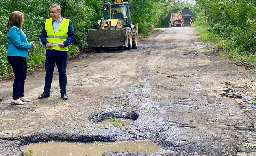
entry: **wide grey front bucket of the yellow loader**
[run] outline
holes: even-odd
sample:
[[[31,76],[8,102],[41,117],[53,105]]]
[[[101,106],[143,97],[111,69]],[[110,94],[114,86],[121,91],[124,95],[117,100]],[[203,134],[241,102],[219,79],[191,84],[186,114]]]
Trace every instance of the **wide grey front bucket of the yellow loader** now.
[[[123,29],[88,30],[87,48],[128,47],[126,36]]]

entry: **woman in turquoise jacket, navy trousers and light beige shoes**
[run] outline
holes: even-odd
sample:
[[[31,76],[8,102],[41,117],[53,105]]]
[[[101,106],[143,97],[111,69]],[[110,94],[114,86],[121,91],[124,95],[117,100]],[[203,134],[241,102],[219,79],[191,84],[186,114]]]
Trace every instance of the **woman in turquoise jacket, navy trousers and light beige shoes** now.
[[[30,100],[24,97],[24,85],[27,75],[28,51],[35,47],[33,42],[28,43],[28,38],[22,31],[24,15],[20,11],[10,14],[7,24],[7,59],[13,68],[13,98],[12,104],[23,105]]]

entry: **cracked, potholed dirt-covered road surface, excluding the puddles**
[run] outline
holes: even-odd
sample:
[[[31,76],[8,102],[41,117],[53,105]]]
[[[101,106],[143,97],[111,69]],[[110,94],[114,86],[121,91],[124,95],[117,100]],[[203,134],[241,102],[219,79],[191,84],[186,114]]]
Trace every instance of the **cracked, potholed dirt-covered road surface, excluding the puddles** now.
[[[60,97],[57,69],[45,99],[37,99],[44,69],[28,75],[25,105],[11,105],[13,79],[1,81],[0,156],[21,156],[30,143],[137,140],[166,150],[150,156],[256,156],[256,74],[207,45],[194,28],[163,28],[138,49],[69,59],[68,100]],[[135,121],[97,124],[110,117]],[[104,154],[116,155],[134,153]]]

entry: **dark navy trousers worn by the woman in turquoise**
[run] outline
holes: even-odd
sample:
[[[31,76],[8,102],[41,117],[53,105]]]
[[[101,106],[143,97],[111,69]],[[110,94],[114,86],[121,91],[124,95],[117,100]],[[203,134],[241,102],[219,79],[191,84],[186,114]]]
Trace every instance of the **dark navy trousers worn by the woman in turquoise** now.
[[[27,76],[27,60],[20,56],[7,56],[9,63],[13,68],[13,99],[17,100],[24,96],[25,79]]]

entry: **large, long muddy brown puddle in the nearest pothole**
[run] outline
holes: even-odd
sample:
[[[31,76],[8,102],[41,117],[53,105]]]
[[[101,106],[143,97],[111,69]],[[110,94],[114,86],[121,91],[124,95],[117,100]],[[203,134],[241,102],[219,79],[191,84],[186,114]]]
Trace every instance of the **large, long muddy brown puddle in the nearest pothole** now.
[[[30,156],[101,156],[107,151],[130,151],[138,153],[163,152],[151,141],[99,142],[94,143],[38,143],[25,146],[23,152],[33,152]]]

